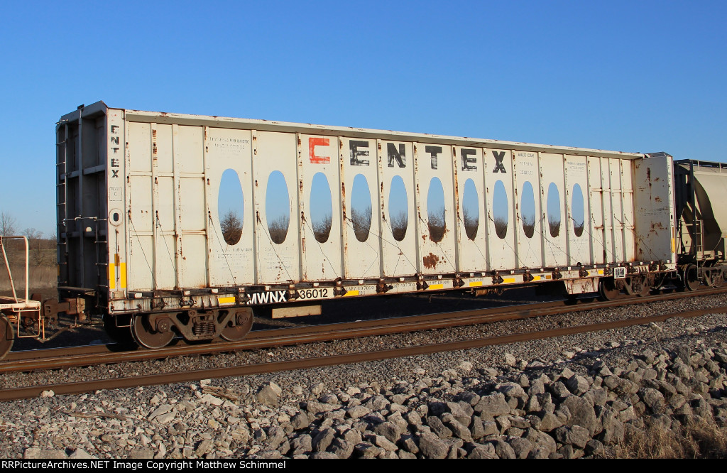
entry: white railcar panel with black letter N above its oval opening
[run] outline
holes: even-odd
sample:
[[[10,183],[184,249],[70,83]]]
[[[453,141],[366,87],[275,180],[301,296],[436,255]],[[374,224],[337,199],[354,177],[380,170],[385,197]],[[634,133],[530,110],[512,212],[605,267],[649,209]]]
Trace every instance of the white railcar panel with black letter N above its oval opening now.
[[[379,140],[379,209],[382,241],[383,274],[386,277],[411,276],[417,267],[417,215],[414,193],[414,150],[411,143]],[[392,193],[395,177],[401,178],[406,191],[406,233],[401,241],[394,238],[392,216],[389,215],[390,198],[402,201],[404,196]],[[393,216],[396,217],[395,215]]]

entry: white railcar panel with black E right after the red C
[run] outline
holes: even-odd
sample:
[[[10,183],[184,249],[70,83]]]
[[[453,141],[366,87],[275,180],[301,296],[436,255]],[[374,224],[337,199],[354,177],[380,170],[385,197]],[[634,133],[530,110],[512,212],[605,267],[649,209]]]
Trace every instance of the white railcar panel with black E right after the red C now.
[[[379,212],[379,172],[377,141],[360,138],[341,138],[340,140],[341,180],[343,183],[342,202],[345,225],[343,235],[343,263],[345,279],[369,279],[381,276],[381,219]],[[360,242],[356,238],[356,225],[353,220],[353,182],[361,175],[371,199],[371,226],[369,234]],[[359,179],[361,182],[361,179]],[[366,210],[366,209],[364,209]],[[361,209],[358,210],[361,212]],[[364,218],[365,220],[365,218]]]

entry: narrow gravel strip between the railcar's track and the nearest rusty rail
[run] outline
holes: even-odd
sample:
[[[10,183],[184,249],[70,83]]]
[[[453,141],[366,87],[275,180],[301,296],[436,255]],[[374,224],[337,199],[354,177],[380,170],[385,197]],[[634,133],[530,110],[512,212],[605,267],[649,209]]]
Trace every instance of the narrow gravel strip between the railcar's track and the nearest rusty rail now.
[[[443,330],[425,330],[415,333],[395,335],[379,335],[374,337],[354,338],[336,342],[306,343],[300,346],[283,346],[273,349],[254,351],[238,351],[233,353],[214,354],[209,356],[176,357],[171,359],[149,360],[145,362],[129,362],[119,365],[97,365],[89,367],[71,368],[68,370],[40,371],[36,373],[7,373],[0,379],[0,389],[21,386],[35,386],[39,384],[52,384],[70,381],[88,381],[103,378],[118,378],[133,376],[139,373],[170,373],[180,370],[201,370],[231,365],[252,365],[266,362],[279,362],[289,359],[310,357],[324,357],[331,354],[346,354],[356,351],[376,351],[404,346],[419,346],[430,343],[444,343],[458,341],[465,338],[496,337],[511,333],[534,332],[557,327],[585,325],[589,323],[608,322],[626,317],[644,317],[654,314],[668,314],[678,311],[688,311],[710,306],[727,305],[727,294],[707,295],[699,298],[684,298],[676,301],[639,304],[638,306],[623,306],[613,309],[600,309],[592,311],[572,312],[549,317],[514,320],[507,322],[493,322],[464,327],[450,327]],[[672,332],[686,330],[694,322],[689,319],[674,319],[669,321]],[[656,333],[648,326],[628,327],[621,329],[618,335],[611,335],[610,340],[653,339]],[[592,349],[598,349],[598,340],[604,335],[584,334],[593,336],[594,342],[589,343]],[[609,340],[609,341],[610,341]],[[603,344],[603,343],[601,343]],[[552,354],[534,350],[537,343],[523,343],[523,359],[546,361]],[[558,342],[546,343],[545,346],[554,346],[560,349]],[[500,351],[494,347],[495,352]],[[566,350],[567,351],[567,350]],[[483,360],[485,363],[492,359]],[[329,368],[326,368],[328,370]]]

